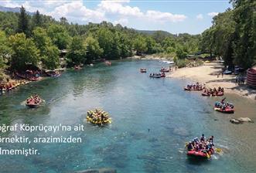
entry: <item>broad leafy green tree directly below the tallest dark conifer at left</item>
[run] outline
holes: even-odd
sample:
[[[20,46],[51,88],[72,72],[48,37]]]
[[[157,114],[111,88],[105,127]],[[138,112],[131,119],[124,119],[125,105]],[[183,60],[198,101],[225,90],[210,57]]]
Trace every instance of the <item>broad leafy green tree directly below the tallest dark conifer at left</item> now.
[[[26,39],[24,33],[10,36],[9,46],[12,48],[10,65],[13,70],[26,70],[26,65],[36,66],[39,62],[39,50],[32,39]]]

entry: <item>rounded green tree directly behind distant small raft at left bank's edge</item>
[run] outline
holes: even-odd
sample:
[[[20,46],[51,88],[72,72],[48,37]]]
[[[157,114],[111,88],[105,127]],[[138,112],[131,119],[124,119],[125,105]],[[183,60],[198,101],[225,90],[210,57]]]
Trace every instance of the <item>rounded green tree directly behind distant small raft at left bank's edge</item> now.
[[[84,44],[84,40],[79,36],[74,36],[67,53],[68,63],[71,66],[85,63],[86,52],[86,45]]]

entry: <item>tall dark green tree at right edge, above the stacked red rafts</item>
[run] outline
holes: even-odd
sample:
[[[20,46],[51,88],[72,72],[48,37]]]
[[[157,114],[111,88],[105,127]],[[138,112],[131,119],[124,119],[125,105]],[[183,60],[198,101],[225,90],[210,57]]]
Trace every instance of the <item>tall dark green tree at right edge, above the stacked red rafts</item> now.
[[[256,2],[232,0],[234,21],[237,23],[234,36],[234,63],[244,68],[256,63]]]

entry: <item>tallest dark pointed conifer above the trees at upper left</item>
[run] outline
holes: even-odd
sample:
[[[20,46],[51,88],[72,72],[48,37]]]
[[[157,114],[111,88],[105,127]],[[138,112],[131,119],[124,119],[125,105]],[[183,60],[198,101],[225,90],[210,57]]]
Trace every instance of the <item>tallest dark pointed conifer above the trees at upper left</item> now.
[[[29,35],[29,19],[28,15],[26,14],[26,9],[23,6],[20,8],[17,32],[23,32],[27,36]]]

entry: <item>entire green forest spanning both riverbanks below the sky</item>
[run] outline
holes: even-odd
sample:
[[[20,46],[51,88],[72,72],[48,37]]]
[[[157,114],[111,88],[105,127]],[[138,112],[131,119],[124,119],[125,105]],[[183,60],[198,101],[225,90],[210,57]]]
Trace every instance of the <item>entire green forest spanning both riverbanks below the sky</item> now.
[[[188,55],[209,54],[225,65],[251,67],[256,61],[256,2],[231,0],[233,8],[213,17],[213,24],[200,35],[139,32],[111,22],[78,25],[59,21],[39,11],[29,15],[0,12],[0,73],[24,71],[27,66],[54,70],[60,67],[60,51],[66,50],[67,66],[99,59],[164,54],[176,62]]]

